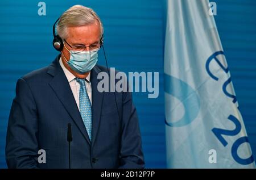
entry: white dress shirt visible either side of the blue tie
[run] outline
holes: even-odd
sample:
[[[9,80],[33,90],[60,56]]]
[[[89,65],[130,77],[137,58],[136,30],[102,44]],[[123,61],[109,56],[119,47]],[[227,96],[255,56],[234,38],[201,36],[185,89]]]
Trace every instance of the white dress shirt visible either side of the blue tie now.
[[[79,108],[79,90],[80,90],[80,83],[76,81],[76,77],[74,76],[74,74],[72,74],[71,72],[69,72],[69,70],[64,66],[62,60],[61,60],[61,57],[60,57],[60,66],[61,68],[63,69],[64,73],[65,73],[65,76],[67,77],[68,79],[68,82],[69,82],[69,86],[71,87],[71,90],[72,90],[72,93],[73,93],[73,96],[76,100],[76,104],[77,104],[77,107]],[[87,94],[89,96],[89,99],[90,99],[90,104],[92,104],[92,85],[90,83],[90,73],[88,74],[88,76],[86,77],[86,80],[89,82],[86,82],[85,81],[85,86],[86,86],[86,91],[87,91]],[[80,108],[79,108],[80,110]]]

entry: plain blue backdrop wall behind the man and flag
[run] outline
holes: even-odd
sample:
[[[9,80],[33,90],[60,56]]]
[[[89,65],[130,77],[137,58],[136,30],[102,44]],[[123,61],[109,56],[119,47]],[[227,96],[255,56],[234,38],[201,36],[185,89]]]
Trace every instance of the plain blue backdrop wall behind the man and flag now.
[[[46,16],[38,15],[38,2],[0,1],[0,168],[6,168],[6,128],[16,80],[53,61],[57,52],[52,47],[52,24],[76,4],[91,7],[100,16],[105,28],[104,47],[110,67],[124,72],[159,72],[158,98],[148,99],[147,93],[134,93],[133,97],[141,125],[146,168],[166,168],[163,97],[165,1],[47,0],[44,1]],[[214,2],[217,3],[218,32],[256,157],[256,1]],[[102,50],[99,61],[105,65]]]

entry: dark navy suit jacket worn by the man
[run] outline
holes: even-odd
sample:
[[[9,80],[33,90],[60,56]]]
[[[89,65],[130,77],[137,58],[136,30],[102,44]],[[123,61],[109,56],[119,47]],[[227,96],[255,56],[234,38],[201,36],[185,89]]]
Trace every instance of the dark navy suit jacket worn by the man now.
[[[144,168],[141,133],[131,93],[97,90],[97,74],[91,70],[92,142],[75,98],[55,58],[46,68],[18,79],[11,106],[6,139],[9,168],[69,168],[68,123],[72,124],[71,168]],[[46,163],[38,162],[38,150],[46,150]]]

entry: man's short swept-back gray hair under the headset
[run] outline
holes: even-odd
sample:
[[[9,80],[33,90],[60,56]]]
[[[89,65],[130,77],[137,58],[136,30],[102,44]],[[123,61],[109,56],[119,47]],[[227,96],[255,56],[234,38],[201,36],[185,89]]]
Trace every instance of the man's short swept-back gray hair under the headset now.
[[[58,35],[64,39],[68,37],[67,27],[85,26],[96,22],[100,24],[102,36],[104,29],[96,12],[89,7],[75,5],[60,16],[59,23],[57,24],[57,32]]]

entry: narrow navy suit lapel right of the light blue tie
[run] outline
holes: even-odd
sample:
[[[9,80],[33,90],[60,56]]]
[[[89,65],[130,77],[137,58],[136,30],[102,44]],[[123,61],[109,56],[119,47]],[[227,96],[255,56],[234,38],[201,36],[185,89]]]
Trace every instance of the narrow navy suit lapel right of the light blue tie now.
[[[98,127],[101,119],[102,100],[104,93],[100,93],[97,89],[97,75],[100,73],[98,66],[94,66],[91,70],[91,85],[92,85],[92,146],[96,140]]]

